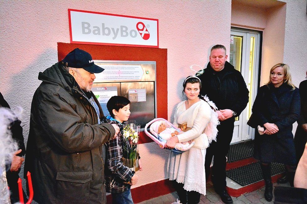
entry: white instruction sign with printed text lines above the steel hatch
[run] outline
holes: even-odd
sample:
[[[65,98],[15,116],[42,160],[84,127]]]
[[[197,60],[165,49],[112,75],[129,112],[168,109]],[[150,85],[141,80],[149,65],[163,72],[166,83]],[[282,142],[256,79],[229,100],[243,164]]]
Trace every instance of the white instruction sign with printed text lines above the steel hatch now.
[[[140,80],[144,74],[141,65],[95,64],[105,69],[103,72],[95,74],[97,81]]]

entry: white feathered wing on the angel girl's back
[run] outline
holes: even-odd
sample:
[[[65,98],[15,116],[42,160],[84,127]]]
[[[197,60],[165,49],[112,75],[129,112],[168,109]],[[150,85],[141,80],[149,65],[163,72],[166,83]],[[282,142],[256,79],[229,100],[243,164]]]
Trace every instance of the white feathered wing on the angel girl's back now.
[[[216,105],[207,97],[207,95],[202,96],[207,103],[213,107],[215,110],[217,110],[218,108],[216,107]],[[207,127],[204,130],[204,133],[207,135],[208,137],[208,141],[209,144],[214,140],[216,141],[216,136],[218,134],[218,129],[217,126],[220,124],[220,121],[218,120],[218,113],[216,111],[214,111],[213,109],[211,109],[211,121],[208,123]]]

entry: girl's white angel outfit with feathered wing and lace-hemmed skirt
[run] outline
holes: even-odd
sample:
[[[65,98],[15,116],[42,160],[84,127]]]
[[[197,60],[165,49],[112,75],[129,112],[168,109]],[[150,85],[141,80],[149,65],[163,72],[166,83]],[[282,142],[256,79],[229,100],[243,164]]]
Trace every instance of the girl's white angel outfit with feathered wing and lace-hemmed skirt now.
[[[210,103],[210,105],[212,105]],[[218,125],[217,114],[204,100],[200,100],[186,109],[185,101],[177,105],[174,115],[174,125],[187,123],[188,130],[178,136],[179,142],[195,139],[195,145],[181,154],[170,151],[168,159],[168,176],[170,180],[184,183],[183,188],[187,191],[197,191],[206,195],[205,156],[209,142],[216,140]],[[215,107],[215,105],[212,105]],[[209,124],[209,125],[208,125]],[[210,134],[206,135],[206,127]]]

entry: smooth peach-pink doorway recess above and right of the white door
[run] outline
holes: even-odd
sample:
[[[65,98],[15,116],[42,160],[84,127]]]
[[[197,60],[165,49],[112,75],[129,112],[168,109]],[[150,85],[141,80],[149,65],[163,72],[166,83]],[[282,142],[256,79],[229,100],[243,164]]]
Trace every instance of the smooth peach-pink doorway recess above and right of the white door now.
[[[243,3],[240,0],[233,1],[231,25],[263,31],[260,74],[260,86],[262,86],[267,83],[271,67],[283,62],[286,4],[275,1],[274,6],[272,2],[268,5],[263,2],[260,7],[257,1],[249,2],[248,5]]]

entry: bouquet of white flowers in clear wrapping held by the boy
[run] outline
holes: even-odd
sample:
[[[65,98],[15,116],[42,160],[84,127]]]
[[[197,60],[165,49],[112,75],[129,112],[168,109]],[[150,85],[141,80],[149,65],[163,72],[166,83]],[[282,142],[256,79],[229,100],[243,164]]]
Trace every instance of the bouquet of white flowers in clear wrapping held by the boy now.
[[[127,121],[129,122],[129,121]],[[125,166],[128,166],[132,171],[138,171],[139,165],[138,165],[138,148],[137,148],[137,142],[139,139],[139,133],[140,133],[140,125],[136,125],[134,123],[128,123],[124,125],[123,128],[123,145],[122,145],[122,151],[123,151],[123,157],[122,161]]]

